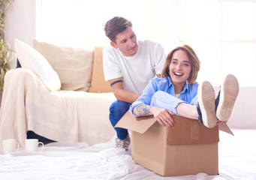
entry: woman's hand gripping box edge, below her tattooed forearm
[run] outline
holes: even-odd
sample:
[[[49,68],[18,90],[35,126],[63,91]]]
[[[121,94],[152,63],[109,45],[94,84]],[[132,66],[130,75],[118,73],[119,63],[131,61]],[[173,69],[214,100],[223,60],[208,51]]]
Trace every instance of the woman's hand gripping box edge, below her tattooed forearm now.
[[[152,107],[150,112],[154,115],[154,118],[159,124],[169,127],[173,126],[174,121],[171,115],[175,115],[175,113],[160,107]]]

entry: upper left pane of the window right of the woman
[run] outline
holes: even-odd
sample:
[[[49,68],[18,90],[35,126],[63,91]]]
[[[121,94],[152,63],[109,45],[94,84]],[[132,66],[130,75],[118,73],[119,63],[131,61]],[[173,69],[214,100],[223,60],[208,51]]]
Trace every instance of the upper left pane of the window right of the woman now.
[[[188,40],[219,40],[221,7],[216,1],[185,1],[183,35]]]

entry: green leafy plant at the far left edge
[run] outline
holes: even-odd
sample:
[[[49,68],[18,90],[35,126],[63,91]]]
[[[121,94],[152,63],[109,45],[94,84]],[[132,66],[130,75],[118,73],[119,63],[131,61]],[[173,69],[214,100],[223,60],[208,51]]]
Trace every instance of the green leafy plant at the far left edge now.
[[[0,0],[0,7],[8,9],[11,0]],[[0,9],[0,92],[3,91],[5,73],[11,68],[11,53],[13,52],[7,42],[4,40],[4,13]]]

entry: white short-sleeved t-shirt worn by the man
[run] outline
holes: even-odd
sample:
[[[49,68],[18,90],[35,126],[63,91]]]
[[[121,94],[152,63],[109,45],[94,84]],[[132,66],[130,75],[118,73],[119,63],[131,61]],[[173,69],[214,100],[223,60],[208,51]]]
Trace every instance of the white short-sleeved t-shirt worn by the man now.
[[[165,58],[164,48],[152,40],[138,40],[137,53],[129,57],[107,46],[103,51],[105,80],[122,77],[126,91],[141,95],[149,80],[161,74]]]

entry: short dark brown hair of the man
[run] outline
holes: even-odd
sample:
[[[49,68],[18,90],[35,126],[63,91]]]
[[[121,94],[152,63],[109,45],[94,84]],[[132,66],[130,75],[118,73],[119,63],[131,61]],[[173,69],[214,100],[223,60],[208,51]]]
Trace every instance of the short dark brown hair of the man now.
[[[113,17],[111,20],[107,21],[104,26],[104,31],[106,36],[116,43],[116,34],[125,31],[129,26],[132,27],[132,23],[123,17]]]

